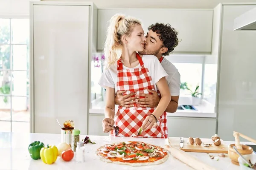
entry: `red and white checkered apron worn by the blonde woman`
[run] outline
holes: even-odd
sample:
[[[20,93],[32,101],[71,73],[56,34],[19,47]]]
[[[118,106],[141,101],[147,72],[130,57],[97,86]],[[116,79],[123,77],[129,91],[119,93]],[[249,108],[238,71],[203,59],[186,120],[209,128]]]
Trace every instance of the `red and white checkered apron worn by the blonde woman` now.
[[[117,61],[117,91],[127,91],[125,94],[148,94],[147,89],[154,90],[154,82],[148,68],[144,67],[139,54],[136,54],[136,57],[140,62],[140,68],[123,69],[121,60]],[[137,105],[131,108],[119,106],[115,117],[115,126],[120,128],[118,136],[136,137],[145,118],[153,112],[154,108],[142,108]],[[111,130],[110,135],[115,136],[114,130]],[[143,130],[138,137],[164,138],[161,120],[158,120],[157,127]]]

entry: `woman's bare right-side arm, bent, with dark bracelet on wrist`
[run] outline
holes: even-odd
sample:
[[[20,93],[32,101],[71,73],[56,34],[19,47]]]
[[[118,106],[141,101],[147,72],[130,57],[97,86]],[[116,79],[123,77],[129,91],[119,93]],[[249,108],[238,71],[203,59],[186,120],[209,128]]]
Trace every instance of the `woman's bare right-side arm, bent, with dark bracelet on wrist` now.
[[[165,77],[162,77],[156,83],[156,85],[162,97],[157,105],[157,108],[154,110],[152,115],[154,115],[158,120],[160,116],[163,114],[163,112],[166,110],[167,106],[169,105],[169,102],[171,101],[171,94],[170,94]],[[156,123],[156,119],[152,115],[147,116],[146,119],[143,121],[143,124],[142,124],[143,130],[150,129]]]

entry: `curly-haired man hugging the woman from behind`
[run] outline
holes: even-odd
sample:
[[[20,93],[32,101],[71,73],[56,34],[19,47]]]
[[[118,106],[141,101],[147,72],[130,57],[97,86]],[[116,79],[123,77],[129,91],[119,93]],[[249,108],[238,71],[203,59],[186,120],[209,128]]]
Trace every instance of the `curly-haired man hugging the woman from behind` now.
[[[167,77],[167,83],[171,92],[171,101],[166,108],[166,112],[174,113],[177,111],[178,100],[180,95],[180,73],[177,68],[169,62],[163,56],[168,56],[174,48],[178,45],[177,31],[171,27],[170,24],[155,23],[148,27],[148,33],[145,36],[146,42],[144,50],[139,52],[143,55],[155,55],[166,73],[169,75]],[[134,103],[140,105],[141,107],[151,107],[156,108],[160,101],[160,93],[148,90],[151,94],[138,94],[134,93],[123,96],[124,91],[119,91],[116,94],[115,104],[121,105],[123,107],[133,107]],[[134,96],[135,97],[131,97]],[[144,96],[145,98],[139,98],[138,96]],[[161,116],[161,121],[163,123],[164,135],[168,137],[167,129],[167,115],[166,112]]]

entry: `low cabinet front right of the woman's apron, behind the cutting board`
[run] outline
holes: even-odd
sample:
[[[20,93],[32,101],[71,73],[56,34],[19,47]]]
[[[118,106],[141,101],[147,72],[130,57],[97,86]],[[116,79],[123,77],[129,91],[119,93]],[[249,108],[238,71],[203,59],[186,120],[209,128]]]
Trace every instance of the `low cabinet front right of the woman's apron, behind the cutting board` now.
[[[168,117],[169,137],[211,138],[216,131],[215,118]]]

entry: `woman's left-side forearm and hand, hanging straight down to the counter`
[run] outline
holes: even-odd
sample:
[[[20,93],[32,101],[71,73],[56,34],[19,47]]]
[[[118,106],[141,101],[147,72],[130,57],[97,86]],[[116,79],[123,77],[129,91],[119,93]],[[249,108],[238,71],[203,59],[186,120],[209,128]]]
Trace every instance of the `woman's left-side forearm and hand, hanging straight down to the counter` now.
[[[108,133],[113,130],[111,125],[114,125],[115,116],[115,89],[110,87],[106,88],[106,106],[105,106],[105,118],[102,120],[103,132]]]

